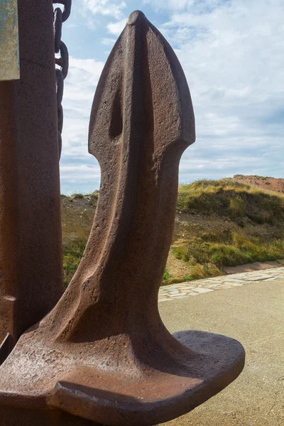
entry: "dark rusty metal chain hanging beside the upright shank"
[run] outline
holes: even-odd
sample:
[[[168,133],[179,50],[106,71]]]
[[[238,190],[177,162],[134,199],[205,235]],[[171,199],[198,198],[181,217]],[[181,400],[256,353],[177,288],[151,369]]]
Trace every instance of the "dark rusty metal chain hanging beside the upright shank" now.
[[[63,109],[62,109],[62,96],[64,89],[64,80],[68,73],[69,67],[69,55],[65,43],[61,40],[62,23],[65,22],[71,12],[72,0],[53,0],[54,3],[63,4],[64,9],[61,11],[60,7],[57,7],[53,13],[53,28],[54,28],[54,48],[55,53],[59,53],[60,58],[55,58],[55,64],[60,66],[60,69],[55,68],[56,75],[56,99],[58,104],[58,151],[59,158],[62,149],[62,126],[63,126]]]

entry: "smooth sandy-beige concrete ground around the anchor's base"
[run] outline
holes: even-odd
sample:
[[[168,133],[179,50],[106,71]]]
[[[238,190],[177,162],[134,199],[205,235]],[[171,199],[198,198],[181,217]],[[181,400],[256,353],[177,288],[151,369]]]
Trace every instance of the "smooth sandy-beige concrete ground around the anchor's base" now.
[[[239,340],[239,378],[167,426],[284,426],[284,279],[159,303],[170,332],[200,329]]]

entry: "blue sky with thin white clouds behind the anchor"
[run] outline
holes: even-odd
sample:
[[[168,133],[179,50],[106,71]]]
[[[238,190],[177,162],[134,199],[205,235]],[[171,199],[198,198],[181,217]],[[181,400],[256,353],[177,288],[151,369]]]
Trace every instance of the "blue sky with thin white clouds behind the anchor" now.
[[[104,63],[137,9],[172,45],[190,87],[197,138],[182,155],[180,183],[283,178],[283,0],[73,0],[62,26],[70,67],[61,192],[99,189],[99,164],[87,148],[89,115]]]

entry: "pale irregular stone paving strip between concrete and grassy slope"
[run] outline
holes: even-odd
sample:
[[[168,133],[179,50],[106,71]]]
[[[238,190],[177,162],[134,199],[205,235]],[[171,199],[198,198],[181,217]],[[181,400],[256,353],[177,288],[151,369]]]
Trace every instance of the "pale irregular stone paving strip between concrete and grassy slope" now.
[[[210,291],[223,290],[224,288],[233,288],[251,283],[260,283],[266,280],[277,280],[277,278],[284,278],[284,267],[266,269],[265,271],[235,273],[221,277],[206,278],[204,280],[187,281],[187,283],[164,285],[160,287],[158,301],[166,302],[168,300],[184,299],[185,297],[197,296],[202,293],[209,293]]]

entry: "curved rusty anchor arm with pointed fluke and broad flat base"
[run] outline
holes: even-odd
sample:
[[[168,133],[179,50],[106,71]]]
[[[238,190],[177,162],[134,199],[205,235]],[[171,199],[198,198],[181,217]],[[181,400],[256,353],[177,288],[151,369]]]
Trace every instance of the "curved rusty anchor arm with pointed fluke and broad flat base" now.
[[[158,313],[182,152],[195,141],[175,53],[133,12],[99,80],[89,152],[102,168],[84,257],[58,305],[0,367],[0,415],[17,426],[147,426],[195,408],[244,366],[234,339],[171,335]],[[70,423],[60,416],[72,415]],[[11,420],[11,417],[14,419]],[[80,417],[82,419],[80,420]]]

